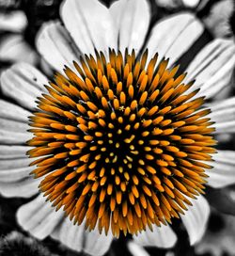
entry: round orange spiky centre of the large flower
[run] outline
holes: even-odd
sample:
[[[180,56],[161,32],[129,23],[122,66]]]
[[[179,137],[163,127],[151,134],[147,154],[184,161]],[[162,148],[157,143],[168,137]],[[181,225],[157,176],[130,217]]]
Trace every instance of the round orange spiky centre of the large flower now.
[[[183,214],[203,193],[211,121],[179,67],[110,50],[57,73],[30,117],[40,190],[74,223],[138,233]],[[186,197],[187,196],[187,197]]]

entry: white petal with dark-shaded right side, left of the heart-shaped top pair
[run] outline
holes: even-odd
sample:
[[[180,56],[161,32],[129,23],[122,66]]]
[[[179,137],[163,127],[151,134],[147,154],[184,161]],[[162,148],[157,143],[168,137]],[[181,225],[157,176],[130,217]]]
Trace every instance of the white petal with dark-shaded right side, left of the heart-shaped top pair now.
[[[59,72],[65,65],[72,69],[72,61],[78,62],[80,56],[71,36],[59,22],[43,24],[36,45],[39,53]]]

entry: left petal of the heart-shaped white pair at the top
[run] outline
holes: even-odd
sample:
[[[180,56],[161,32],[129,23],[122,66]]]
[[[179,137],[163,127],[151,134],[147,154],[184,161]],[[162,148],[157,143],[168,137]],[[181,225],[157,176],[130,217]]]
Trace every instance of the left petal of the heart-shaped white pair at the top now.
[[[61,8],[61,18],[83,54],[94,55],[94,48],[117,49],[117,31],[108,8],[97,0],[68,0]]]

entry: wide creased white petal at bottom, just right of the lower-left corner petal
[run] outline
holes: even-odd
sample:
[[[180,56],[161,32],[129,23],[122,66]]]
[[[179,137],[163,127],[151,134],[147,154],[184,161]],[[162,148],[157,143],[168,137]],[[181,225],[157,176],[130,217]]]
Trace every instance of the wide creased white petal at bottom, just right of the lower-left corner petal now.
[[[111,232],[107,235],[94,231],[85,230],[85,222],[81,225],[73,225],[69,217],[65,218],[51,235],[68,248],[83,251],[92,256],[102,256],[110,247],[113,236]]]

